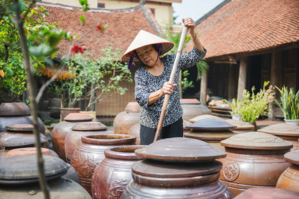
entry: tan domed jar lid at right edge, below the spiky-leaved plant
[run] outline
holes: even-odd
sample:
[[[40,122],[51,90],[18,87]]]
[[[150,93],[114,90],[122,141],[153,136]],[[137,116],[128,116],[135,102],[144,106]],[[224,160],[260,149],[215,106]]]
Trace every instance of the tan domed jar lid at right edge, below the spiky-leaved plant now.
[[[273,124],[257,131],[277,136],[299,136],[299,126],[286,123]]]

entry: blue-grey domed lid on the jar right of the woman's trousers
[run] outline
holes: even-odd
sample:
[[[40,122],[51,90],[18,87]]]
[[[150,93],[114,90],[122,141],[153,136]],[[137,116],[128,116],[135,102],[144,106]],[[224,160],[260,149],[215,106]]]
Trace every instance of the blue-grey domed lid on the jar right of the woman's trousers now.
[[[225,129],[232,129],[236,126],[233,126],[222,119],[200,119],[195,121],[194,123],[186,126],[188,129],[197,129],[197,130],[205,130],[205,131],[221,131]]]

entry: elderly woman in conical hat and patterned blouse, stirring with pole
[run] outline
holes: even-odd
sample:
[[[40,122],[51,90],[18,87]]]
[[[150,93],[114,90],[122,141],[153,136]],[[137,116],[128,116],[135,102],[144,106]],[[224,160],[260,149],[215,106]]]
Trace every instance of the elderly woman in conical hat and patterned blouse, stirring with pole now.
[[[194,31],[195,22],[187,18],[183,23],[189,27],[193,49],[181,55],[174,83],[168,80],[175,55],[159,58],[159,55],[163,55],[173,47],[170,41],[141,30],[122,57],[123,61],[129,62],[129,68],[133,61],[143,63],[143,66],[135,72],[135,100],[141,106],[140,144],[147,145],[153,142],[165,94],[170,94],[170,100],[160,139],[183,137],[183,109],[177,86],[179,71],[193,66],[206,54],[206,49]]]

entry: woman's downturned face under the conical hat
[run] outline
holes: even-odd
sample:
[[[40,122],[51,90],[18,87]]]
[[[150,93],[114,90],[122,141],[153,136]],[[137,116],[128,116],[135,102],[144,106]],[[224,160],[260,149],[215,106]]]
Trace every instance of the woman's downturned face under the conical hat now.
[[[136,49],[138,58],[147,66],[152,67],[155,65],[158,53],[152,47],[152,45],[147,45]]]

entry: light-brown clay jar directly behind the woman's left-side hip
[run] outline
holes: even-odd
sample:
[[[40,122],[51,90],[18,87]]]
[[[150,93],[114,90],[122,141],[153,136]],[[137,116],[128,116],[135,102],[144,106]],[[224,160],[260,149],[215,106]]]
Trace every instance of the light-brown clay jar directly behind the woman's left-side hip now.
[[[128,134],[129,128],[139,123],[140,105],[137,102],[128,102],[125,111],[116,115],[113,120],[115,134]]]

